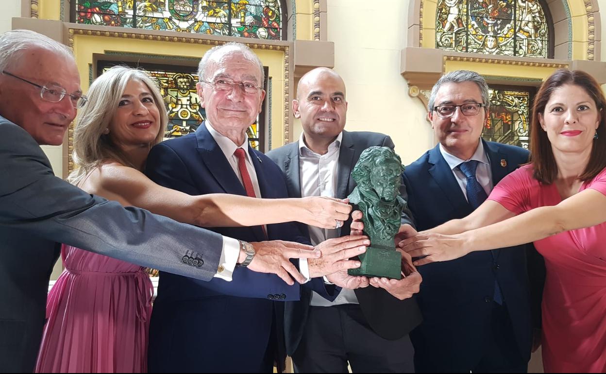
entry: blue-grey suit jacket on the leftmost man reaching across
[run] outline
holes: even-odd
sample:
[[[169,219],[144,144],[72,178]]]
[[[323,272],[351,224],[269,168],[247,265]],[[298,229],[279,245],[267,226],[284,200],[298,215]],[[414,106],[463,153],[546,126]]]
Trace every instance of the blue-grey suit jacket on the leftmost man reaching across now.
[[[56,178],[32,136],[2,116],[0,134],[0,372],[33,372],[59,243],[193,278],[215,275],[221,235],[89,195]]]

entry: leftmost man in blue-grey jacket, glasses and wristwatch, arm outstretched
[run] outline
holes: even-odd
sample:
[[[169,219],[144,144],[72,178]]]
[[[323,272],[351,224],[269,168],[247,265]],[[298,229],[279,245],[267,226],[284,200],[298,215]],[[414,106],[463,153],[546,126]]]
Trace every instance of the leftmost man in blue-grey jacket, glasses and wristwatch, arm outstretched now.
[[[56,178],[39,145],[60,145],[85,101],[65,45],[26,30],[0,36],[0,372],[33,372],[60,243],[204,280],[225,263],[224,253],[242,262],[250,252],[244,242]],[[296,243],[251,244],[248,269],[258,272],[284,272],[288,258],[319,255]]]

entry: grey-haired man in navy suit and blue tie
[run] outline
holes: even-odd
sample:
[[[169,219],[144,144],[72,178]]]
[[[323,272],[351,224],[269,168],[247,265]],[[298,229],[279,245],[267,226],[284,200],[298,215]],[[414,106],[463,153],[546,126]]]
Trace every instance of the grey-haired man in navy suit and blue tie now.
[[[419,231],[467,216],[528,162],[527,150],[480,138],[489,104],[478,73],[447,73],[433,87],[428,117],[439,144],[404,171]],[[533,341],[527,251],[534,249],[474,252],[418,267],[424,322],[411,333],[417,372],[527,371]]]

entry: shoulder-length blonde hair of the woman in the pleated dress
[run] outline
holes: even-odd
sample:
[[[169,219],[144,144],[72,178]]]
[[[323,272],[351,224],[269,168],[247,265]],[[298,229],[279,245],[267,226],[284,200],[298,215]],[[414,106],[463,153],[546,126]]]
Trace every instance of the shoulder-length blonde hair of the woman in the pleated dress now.
[[[118,109],[128,82],[133,80],[147,85],[160,113],[160,130],[154,141],[150,143],[150,149],[162,141],[168,115],[158,86],[144,70],[125,66],[112,67],[95,79],[88,90],[88,102],[82,107],[82,115],[78,118],[74,129],[72,156],[79,168],[70,173],[67,177],[68,182],[78,185],[95,167],[108,160],[135,167],[116,147],[110,136],[104,134],[104,130],[109,127]]]

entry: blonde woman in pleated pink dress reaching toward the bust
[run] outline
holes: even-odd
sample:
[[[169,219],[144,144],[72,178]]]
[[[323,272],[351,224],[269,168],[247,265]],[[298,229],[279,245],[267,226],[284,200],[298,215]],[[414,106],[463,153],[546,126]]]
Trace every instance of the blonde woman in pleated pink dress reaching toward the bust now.
[[[81,167],[69,180],[89,193],[202,227],[299,221],[328,229],[348,218],[350,206],[332,199],[190,196],[151,182],[141,170],[168,118],[141,70],[101,75],[82,113],[74,139]],[[61,256],[65,270],[48,295],[36,372],[146,372],[153,286],[145,269],[68,245]]]

